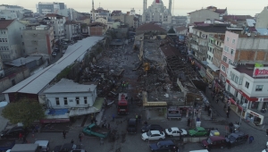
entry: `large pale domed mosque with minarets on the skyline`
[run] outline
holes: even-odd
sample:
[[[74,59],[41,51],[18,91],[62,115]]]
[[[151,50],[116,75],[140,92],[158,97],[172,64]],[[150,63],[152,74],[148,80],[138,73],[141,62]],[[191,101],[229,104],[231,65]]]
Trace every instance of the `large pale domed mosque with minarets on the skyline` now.
[[[172,23],[172,0],[169,0],[169,7],[163,5],[162,0],[154,0],[147,8],[147,0],[144,0],[142,22]]]

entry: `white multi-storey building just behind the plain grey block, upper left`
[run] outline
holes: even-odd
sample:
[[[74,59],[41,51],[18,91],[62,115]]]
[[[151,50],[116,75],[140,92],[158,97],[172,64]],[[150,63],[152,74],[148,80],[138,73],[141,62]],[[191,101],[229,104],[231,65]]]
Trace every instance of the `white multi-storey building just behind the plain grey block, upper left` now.
[[[65,38],[64,24],[66,19],[64,16],[54,13],[47,13],[44,21],[48,25],[53,26],[55,42],[59,39]]]

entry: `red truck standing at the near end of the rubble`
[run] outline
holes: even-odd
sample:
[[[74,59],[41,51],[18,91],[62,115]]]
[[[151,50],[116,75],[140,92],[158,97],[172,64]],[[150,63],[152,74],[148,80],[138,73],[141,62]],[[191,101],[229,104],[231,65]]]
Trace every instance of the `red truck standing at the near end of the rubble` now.
[[[118,95],[117,114],[129,114],[129,103],[127,93],[119,93]]]

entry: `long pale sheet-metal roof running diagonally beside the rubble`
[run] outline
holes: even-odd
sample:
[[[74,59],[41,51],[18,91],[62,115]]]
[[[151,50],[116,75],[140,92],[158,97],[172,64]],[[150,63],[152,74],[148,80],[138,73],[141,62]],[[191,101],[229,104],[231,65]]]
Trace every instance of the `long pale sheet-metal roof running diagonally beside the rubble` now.
[[[94,46],[99,40],[104,37],[88,37],[83,38],[72,46],[68,46],[65,54],[56,63],[51,64],[40,72],[30,76],[26,80],[22,80],[17,85],[5,90],[3,93],[29,93],[38,94],[46,85],[52,81],[55,76],[62,72],[64,68],[76,60],[82,60],[91,46]]]

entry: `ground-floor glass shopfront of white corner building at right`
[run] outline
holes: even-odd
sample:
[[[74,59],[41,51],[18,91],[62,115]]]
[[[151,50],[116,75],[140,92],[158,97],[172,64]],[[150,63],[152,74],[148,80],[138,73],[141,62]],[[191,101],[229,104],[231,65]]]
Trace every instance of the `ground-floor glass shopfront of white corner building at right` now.
[[[255,125],[262,125],[264,123],[264,115],[247,109],[246,120],[247,122],[255,123]]]

